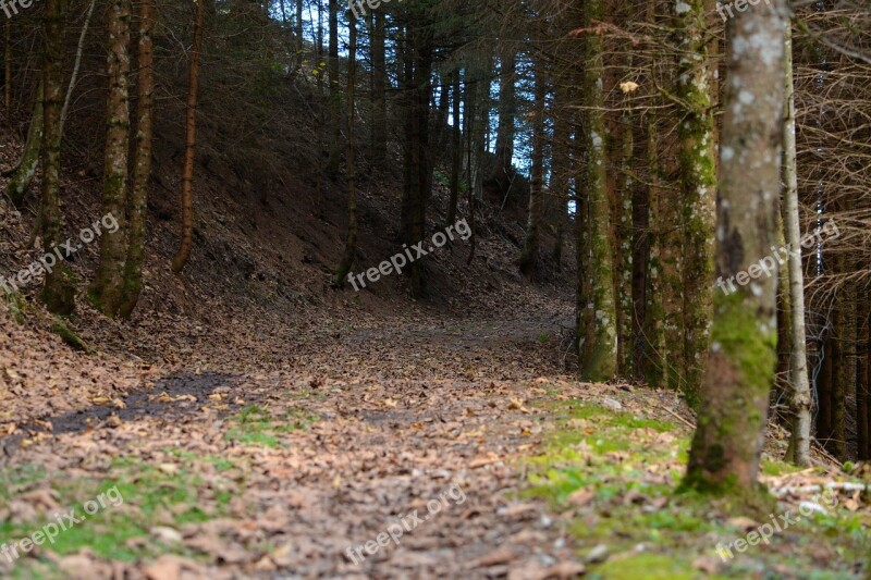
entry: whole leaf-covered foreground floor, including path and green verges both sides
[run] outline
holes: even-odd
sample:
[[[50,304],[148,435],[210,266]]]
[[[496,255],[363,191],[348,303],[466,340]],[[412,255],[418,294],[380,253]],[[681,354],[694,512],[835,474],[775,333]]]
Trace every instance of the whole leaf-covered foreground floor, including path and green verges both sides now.
[[[164,375],[145,366],[123,393],[8,430],[0,544],[51,532],[56,514],[69,529],[15,562],[0,554],[0,571],[152,580],[861,573],[869,497],[842,490],[823,502],[795,488],[862,473],[824,461],[797,471],[773,458],[776,432],[763,479],[780,490],[775,515],[792,514],[792,525],[720,557],[717,544],[768,521],[675,495],[691,415],[672,393],[566,374],[568,324],[373,322],[300,349],[293,370]],[[801,502],[820,513],[795,521]]]

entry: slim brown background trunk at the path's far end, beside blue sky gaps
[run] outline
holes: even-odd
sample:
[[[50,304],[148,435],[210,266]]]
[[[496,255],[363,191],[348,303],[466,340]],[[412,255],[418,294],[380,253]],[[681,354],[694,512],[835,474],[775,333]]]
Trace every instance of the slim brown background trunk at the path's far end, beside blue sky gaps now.
[[[541,206],[544,196],[544,100],[548,83],[544,72],[536,71],[535,110],[532,111],[532,163],[529,171],[529,208],[527,211],[526,236],[520,251],[520,272],[532,279],[538,267],[538,238],[541,223]],[[512,123],[513,121],[512,116]],[[512,132],[512,138],[514,133]],[[498,159],[498,161],[500,161]],[[507,161],[511,163],[511,161]]]

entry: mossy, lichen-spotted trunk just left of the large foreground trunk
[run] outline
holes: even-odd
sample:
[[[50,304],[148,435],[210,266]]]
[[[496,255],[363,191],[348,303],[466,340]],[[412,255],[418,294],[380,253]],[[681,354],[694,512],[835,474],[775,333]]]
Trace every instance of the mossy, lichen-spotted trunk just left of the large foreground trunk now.
[[[714,282],[716,175],[704,4],[704,0],[674,4],[680,37],[676,94],[685,107],[677,125],[684,229],[684,394],[694,406],[703,379]]]

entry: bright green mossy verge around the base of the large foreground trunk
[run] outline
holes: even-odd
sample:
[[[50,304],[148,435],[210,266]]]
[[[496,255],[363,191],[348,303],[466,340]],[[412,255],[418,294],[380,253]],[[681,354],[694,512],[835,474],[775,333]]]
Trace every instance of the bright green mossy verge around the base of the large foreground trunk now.
[[[794,578],[834,580],[856,578],[855,566],[867,558],[871,521],[841,509],[802,519],[770,545],[736,552],[723,564],[717,543],[745,539],[748,530],[729,523],[710,497],[674,494],[689,447],[675,424],[577,400],[549,410],[555,428],[545,433],[542,453],[526,460],[530,485],[522,495],[575,511],[568,530],[584,546],[579,557],[608,545],[609,559],[590,566],[589,578],[781,578],[788,569]],[[762,465],[770,476],[796,471],[783,461]],[[701,557],[720,570],[695,567]]]

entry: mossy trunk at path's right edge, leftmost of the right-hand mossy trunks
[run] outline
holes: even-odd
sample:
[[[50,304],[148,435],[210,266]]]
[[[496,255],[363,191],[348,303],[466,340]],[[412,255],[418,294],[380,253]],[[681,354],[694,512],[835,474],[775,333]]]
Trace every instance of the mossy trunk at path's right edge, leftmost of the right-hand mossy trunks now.
[[[578,243],[579,251],[588,251],[590,276],[589,301],[582,308],[582,325],[578,329],[580,373],[588,381],[608,381],[617,372],[617,321],[614,304],[611,220],[605,183],[605,127],[602,39],[591,28],[602,20],[601,0],[590,0],[584,9],[584,76],[579,101],[585,170],[581,188],[588,197],[588,215],[581,230],[589,230],[587,244]],[[580,277],[580,276],[579,276]],[[579,293],[586,294],[586,293]]]

